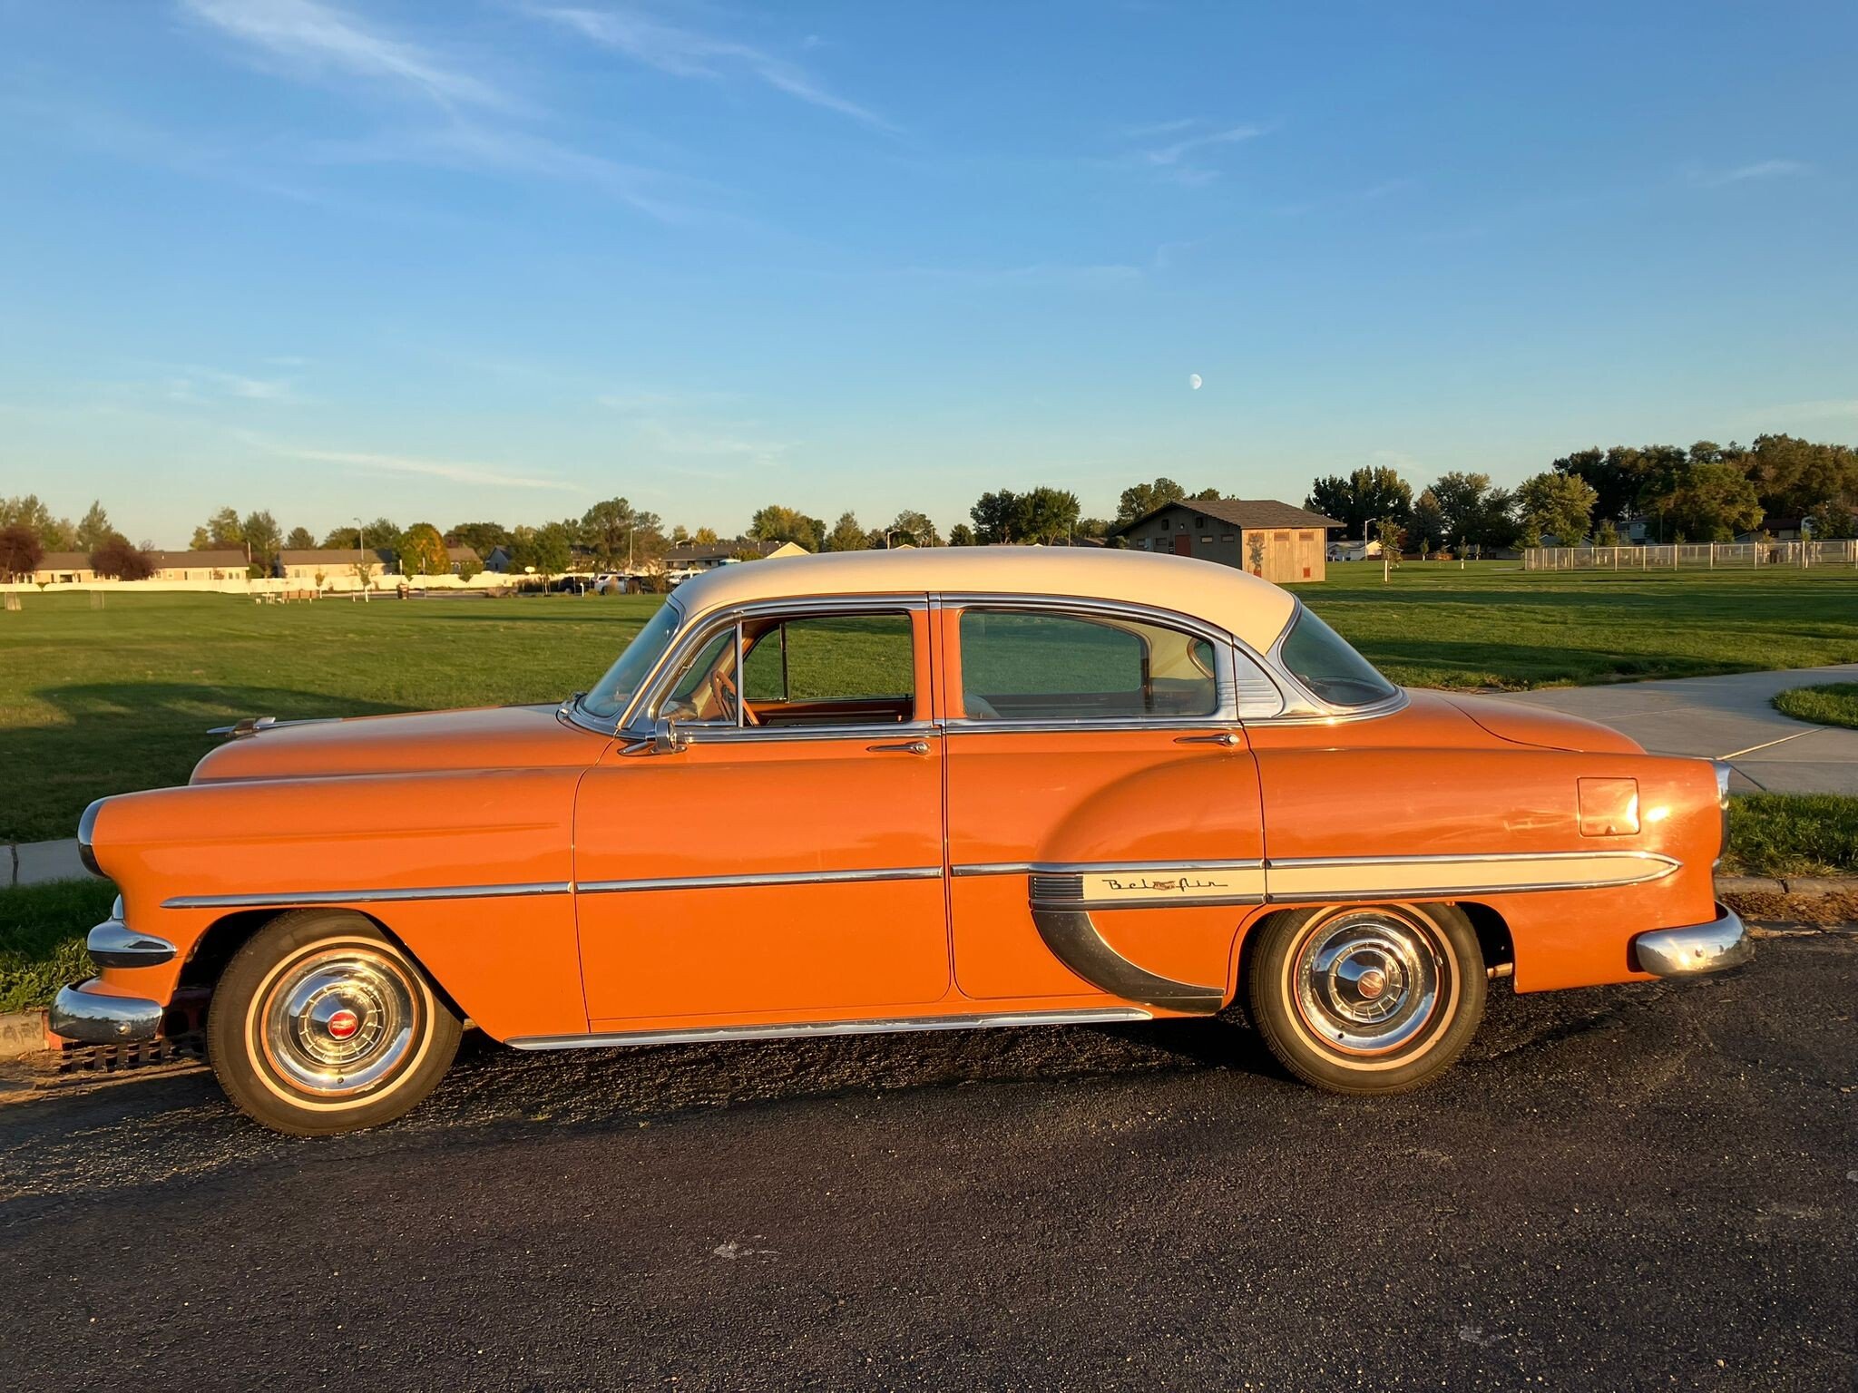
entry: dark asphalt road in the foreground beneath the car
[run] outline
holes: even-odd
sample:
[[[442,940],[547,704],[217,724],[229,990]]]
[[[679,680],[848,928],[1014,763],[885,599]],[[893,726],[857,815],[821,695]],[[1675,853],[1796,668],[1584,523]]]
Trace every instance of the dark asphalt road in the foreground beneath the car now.
[[[1858,936],[1494,994],[1434,1088],[1193,1022],[466,1051],[286,1140],[204,1074],[0,1107],[15,1387],[1858,1382]]]

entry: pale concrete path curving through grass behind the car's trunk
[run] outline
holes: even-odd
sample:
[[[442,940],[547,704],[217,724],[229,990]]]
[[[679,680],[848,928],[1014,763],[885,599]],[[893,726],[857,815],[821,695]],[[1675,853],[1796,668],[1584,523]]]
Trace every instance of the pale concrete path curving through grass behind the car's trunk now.
[[[1737,793],[1858,793],[1858,730],[1812,726],[1771,706],[1787,687],[1858,682],[1858,663],[1722,678],[1622,682],[1503,693],[1499,700],[1546,706],[1613,726],[1654,754],[1702,754],[1735,767]]]

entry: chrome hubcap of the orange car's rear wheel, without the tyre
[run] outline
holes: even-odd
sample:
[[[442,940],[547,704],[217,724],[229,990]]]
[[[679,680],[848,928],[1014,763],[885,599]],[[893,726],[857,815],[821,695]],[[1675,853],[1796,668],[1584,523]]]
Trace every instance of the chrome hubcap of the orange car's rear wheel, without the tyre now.
[[[1297,1009],[1314,1035],[1347,1053],[1379,1055],[1433,1022],[1444,960],[1423,925],[1360,910],[1321,923],[1291,971]]]

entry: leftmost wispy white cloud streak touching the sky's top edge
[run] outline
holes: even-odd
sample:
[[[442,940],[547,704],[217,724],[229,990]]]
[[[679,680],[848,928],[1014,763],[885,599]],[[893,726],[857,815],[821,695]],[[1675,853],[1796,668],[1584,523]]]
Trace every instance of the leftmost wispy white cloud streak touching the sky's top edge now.
[[[320,0],[180,0],[180,7],[229,39],[310,74],[385,80],[446,108],[509,106],[483,78]]]

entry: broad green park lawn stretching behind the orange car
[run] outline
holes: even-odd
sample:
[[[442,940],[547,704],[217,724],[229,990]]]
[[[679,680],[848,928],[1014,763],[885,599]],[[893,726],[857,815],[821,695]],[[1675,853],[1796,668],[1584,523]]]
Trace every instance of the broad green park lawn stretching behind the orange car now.
[[[1533,687],[1858,661],[1858,574],[1336,565],[1297,589],[1412,685]],[[591,685],[656,596],[320,600],[26,594],[0,611],[0,838],[71,836],[91,799],[186,782],[247,715],[543,702]],[[795,665],[799,674],[803,656]],[[875,654],[873,654],[875,657]]]

